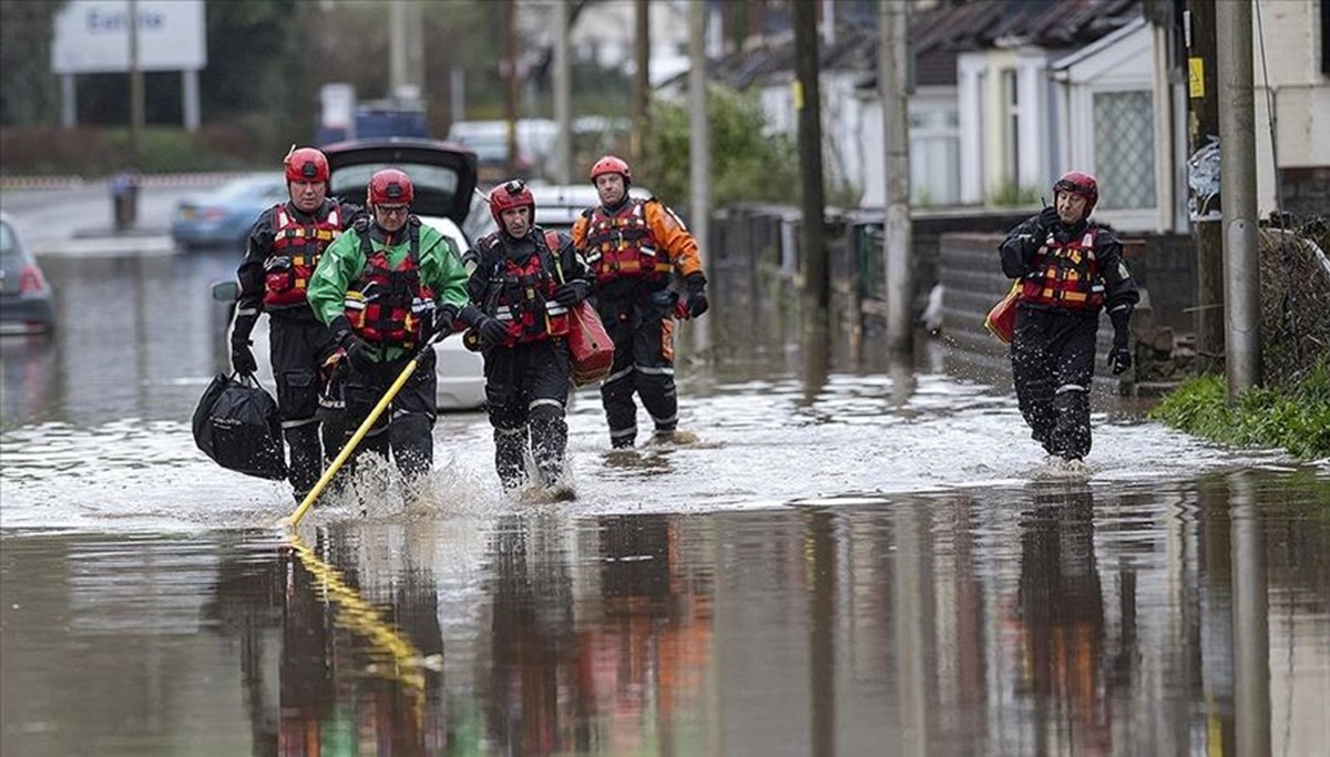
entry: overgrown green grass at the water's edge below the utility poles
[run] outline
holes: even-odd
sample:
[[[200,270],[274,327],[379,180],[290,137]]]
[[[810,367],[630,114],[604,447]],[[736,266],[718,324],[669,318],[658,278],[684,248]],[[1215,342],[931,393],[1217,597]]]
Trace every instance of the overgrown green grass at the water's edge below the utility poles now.
[[[1330,456],[1330,359],[1287,388],[1256,387],[1228,402],[1224,377],[1184,382],[1150,418],[1214,442],[1283,447],[1303,460]]]

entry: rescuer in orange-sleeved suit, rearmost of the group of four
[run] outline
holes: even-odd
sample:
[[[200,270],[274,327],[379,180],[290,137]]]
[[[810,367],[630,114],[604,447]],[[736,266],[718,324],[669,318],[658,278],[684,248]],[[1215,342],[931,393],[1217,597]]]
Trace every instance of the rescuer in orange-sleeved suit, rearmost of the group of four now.
[[[656,426],[653,440],[674,440],[678,396],[674,390],[674,298],[670,274],[686,286],[686,314],[706,313],[706,274],[697,239],[673,210],[654,197],[628,196],[628,164],[605,156],[591,169],[600,205],[573,224],[573,245],[595,277],[596,310],[614,341],[614,365],[600,387],[609,442],[637,442],[636,391]]]

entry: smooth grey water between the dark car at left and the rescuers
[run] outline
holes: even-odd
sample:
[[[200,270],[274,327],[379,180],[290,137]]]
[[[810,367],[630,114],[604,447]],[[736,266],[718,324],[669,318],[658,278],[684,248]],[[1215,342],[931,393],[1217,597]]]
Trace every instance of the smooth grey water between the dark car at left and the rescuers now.
[[[90,426],[180,418],[221,366],[223,310],[209,285],[234,275],[234,253],[55,255],[53,339],[5,339],[5,430],[49,420]]]

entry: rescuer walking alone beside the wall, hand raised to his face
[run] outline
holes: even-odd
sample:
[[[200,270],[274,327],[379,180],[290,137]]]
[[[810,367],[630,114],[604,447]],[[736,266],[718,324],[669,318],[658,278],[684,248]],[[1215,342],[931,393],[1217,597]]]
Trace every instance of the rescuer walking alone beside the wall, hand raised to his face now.
[[[1053,184],[1053,206],[1007,234],[1001,270],[1020,279],[1011,342],[1020,412],[1044,451],[1081,460],[1091,447],[1089,390],[1100,310],[1113,323],[1108,366],[1132,367],[1129,325],[1140,299],[1123,243],[1089,222],[1099,185],[1081,172]]]

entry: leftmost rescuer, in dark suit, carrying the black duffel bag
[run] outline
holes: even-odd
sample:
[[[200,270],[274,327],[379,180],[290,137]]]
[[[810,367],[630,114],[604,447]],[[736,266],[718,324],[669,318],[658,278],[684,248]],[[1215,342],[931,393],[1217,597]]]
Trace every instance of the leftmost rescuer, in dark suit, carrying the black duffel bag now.
[[[315,418],[318,377],[319,365],[334,349],[327,329],[306,303],[305,291],[323,250],[350,226],[351,218],[364,212],[327,197],[329,161],[322,152],[293,146],[283,162],[290,200],[259,214],[235,271],[239,294],[231,366],[241,374],[258,369],[250,334],[259,314],[267,313],[282,436],[290,448],[291,487],[301,502],[323,474]]]

